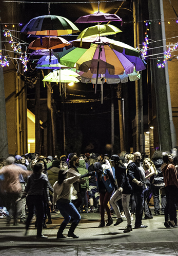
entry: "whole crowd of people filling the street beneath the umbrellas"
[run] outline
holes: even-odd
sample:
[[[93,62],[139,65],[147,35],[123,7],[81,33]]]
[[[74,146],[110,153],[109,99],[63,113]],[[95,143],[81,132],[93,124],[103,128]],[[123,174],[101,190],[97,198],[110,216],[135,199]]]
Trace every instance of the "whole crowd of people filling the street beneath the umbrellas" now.
[[[11,155],[0,159],[0,217],[7,218],[7,226],[12,219],[16,226],[19,217],[27,235],[36,216],[37,239],[48,238],[42,230],[52,224],[51,212],[56,209],[64,217],[57,238],[66,237],[63,231],[69,222],[68,237],[78,238],[74,230],[81,214],[94,212],[101,215],[99,228],[113,224],[112,214],[116,215],[114,226],[126,218],[124,233],[128,233],[134,214],[134,228],[147,228],[142,219],[153,218],[149,208],[153,196],[154,216],[164,215],[164,226],[177,228],[177,169],[176,152],[155,151],[151,159],[146,153],[126,151],[111,157],[98,153],[77,156],[76,152],[59,158],[39,156],[38,152]]]

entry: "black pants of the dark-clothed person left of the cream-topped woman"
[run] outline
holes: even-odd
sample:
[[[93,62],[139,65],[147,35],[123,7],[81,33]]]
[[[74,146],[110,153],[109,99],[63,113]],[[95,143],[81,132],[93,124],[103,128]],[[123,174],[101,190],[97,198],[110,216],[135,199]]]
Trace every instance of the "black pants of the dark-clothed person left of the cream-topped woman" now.
[[[28,217],[26,221],[26,230],[28,230],[30,226],[30,221],[33,217],[33,209],[34,206],[36,208],[36,222],[37,222],[37,235],[42,234],[42,226],[43,226],[43,219],[44,219],[44,201],[43,201],[43,196],[40,195],[33,195],[30,196],[28,195],[27,197],[27,206],[28,206]]]

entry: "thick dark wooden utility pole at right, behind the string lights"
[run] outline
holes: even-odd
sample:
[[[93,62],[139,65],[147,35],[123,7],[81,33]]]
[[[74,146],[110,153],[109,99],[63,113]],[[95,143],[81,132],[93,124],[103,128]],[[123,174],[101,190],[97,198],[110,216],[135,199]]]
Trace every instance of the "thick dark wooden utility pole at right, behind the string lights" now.
[[[163,52],[163,37],[162,29],[159,24],[161,20],[160,12],[160,1],[149,0],[148,1],[149,19],[152,21],[150,24],[151,39],[154,41],[151,45],[151,54],[159,54]],[[156,22],[154,22],[156,21]],[[169,122],[169,111],[168,111],[168,98],[167,98],[167,87],[165,69],[157,68],[157,59],[152,59],[152,83],[155,88],[156,95],[156,118],[160,141],[160,150],[168,151],[172,148],[171,144],[171,131]]]

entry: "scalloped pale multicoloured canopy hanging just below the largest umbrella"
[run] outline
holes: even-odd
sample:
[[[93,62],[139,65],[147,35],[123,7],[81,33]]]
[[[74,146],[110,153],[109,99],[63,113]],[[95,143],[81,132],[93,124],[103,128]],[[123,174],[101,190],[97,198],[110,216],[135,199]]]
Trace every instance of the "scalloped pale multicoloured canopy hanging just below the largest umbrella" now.
[[[81,82],[96,83],[96,74],[92,74],[90,70],[87,73],[82,72],[82,71],[76,71],[76,73],[79,75],[77,78],[81,79]],[[119,83],[119,82],[125,83],[125,82],[128,82],[128,80],[130,80],[130,81],[139,80],[140,77],[141,77],[141,75],[139,74],[139,72],[135,72],[135,71],[128,75],[126,75],[125,72],[123,75],[110,75],[108,73],[108,70],[106,70],[106,74],[98,74],[97,83],[98,84],[103,84],[104,82],[109,83],[109,84]]]

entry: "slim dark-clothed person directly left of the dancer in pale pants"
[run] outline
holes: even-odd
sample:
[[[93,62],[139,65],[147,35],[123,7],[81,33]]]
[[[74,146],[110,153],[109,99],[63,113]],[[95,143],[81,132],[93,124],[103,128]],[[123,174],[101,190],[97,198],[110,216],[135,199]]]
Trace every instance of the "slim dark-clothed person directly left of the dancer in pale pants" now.
[[[108,220],[106,226],[111,226],[113,219],[111,217],[111,212],[108,207],[109,199],[114,191],[115,180],[110,172],[109,166],[107,164],[101,164],[100,162],[94,163],[95,179],[97,189],[100,193],[100,214],[101,221],[98,228],[105,227],[105,209],[108,215]]]

